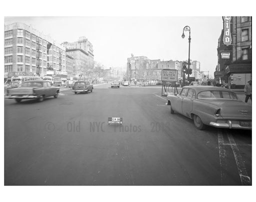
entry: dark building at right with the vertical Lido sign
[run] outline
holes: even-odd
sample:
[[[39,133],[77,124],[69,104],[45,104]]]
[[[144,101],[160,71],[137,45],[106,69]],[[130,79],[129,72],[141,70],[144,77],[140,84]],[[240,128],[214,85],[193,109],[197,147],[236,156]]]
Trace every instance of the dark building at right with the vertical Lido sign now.
[[[243,88],[251,80],[251,16],[231,16],[231,44],[222,41],[226,22],[223,18],[223,29],[218,41],[218,65],[214,77],[236,88]]]

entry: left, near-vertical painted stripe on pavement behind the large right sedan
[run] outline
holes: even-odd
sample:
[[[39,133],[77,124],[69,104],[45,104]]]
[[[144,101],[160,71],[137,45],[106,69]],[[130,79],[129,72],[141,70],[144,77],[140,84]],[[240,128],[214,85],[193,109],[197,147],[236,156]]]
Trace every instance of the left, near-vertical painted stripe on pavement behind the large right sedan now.
[[[221,184],[224,182],[224,178],[227,175],[227,163],[226,163],[226,150],[224,148],[224,139],[222,135],[222,131],[220,129],[217,130],[218,133],[218,151],[219,151],[219,163],[220,163],[220,179]]]

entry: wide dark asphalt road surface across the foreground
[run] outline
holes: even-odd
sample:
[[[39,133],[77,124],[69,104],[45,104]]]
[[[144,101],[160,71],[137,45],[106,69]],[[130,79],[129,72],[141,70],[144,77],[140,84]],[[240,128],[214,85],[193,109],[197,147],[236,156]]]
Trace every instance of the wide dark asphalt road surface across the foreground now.
[[[251,131],[197,130],[160,94],[101,84],[40,103],[5,100],[4,184],[251,184]]]

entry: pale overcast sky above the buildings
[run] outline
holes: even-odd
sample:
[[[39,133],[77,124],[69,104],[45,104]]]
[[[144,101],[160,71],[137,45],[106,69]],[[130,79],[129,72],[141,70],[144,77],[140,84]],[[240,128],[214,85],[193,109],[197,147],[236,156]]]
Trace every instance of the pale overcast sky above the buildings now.
[[[187,60],[188,31],[191,30],[190,59],[213,76],[217,65],[217,42],[222,29],[221,16],[5,16],[4,24],[31,25],[56,42],[77,41],[85,36],[93,45],[94,60],[104,67],[126,67],[127,58]]]

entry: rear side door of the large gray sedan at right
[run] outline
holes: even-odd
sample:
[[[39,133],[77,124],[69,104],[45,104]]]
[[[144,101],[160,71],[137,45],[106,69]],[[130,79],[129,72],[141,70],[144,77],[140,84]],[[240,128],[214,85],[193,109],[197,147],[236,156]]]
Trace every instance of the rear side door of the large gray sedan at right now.
[[[189,89],[187,91],[186,96],[182,99],[182,114],[190,117],[190,112],[192,111],[193,100],[195,98],[195,91],[193,89]]]

